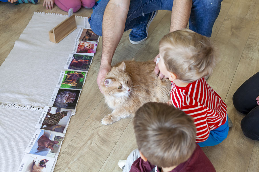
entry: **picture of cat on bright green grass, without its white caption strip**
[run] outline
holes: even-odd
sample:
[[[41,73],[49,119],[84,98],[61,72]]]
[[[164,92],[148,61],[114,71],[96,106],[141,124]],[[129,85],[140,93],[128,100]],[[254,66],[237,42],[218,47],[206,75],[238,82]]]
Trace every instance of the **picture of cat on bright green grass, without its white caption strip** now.
[[[85,72],[65,71],[65,75],[60,87],[82,89],[84,80]]]

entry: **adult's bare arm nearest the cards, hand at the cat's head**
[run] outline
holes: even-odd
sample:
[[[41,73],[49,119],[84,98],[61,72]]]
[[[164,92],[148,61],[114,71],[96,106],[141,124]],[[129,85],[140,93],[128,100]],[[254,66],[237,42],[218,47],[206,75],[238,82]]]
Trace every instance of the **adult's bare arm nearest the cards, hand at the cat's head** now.
[[[130,0],[110,0],[105,8],[102,20],[102,59],[97,84],[103,84],[106,74],[111,70],[113,54],[121,40]]]

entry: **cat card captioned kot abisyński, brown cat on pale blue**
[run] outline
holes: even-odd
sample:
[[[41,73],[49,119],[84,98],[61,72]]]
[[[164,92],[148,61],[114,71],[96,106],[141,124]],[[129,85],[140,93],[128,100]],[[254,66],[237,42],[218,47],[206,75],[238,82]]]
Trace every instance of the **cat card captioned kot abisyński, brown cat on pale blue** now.
[[[37,129],[24,152],[53,158],[64,136],[63,133]]]

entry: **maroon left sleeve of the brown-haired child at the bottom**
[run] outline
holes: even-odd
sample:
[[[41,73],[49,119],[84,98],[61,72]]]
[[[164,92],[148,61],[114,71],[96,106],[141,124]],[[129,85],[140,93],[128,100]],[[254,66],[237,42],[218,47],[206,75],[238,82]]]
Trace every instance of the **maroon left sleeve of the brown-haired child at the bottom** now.
[[[129,172],[150,172],[155,165],[152,165],[148,161],[143,161],[140,157],[134,161]]]

